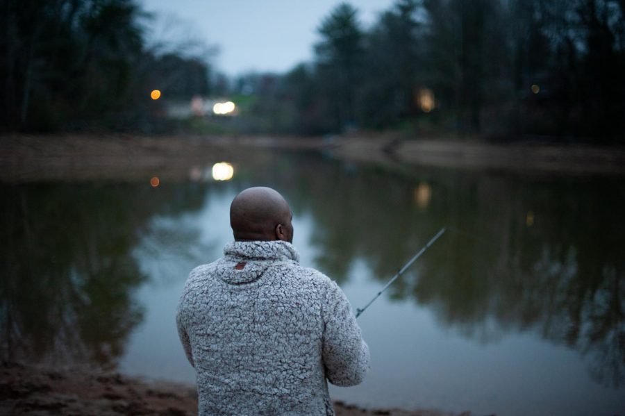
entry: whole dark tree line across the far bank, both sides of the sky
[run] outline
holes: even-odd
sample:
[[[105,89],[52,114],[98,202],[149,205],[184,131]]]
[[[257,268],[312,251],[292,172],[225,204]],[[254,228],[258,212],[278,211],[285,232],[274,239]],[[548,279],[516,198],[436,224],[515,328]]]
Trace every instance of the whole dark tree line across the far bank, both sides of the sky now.
[[[159,88],[239,97],[242,133],[625,136],[624,0],[397,0],[369,27],[340,3],[313,60],[229,88],[206,56],[150,47],[133,0],[1,4],[3,131],[158,131]]]

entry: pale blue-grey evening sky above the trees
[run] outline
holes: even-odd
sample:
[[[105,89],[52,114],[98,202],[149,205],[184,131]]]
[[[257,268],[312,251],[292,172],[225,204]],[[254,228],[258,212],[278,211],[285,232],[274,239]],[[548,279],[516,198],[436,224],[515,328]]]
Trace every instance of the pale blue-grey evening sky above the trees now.
[[[317,27],[340,0],[140,0],[155,13],[153,37],[178,42],[197,38],[219,48],[212,59],[220,72],[286,72],[310,61]],[[358,0],[364,27],[393,0]],[[175,24],[172,22],[176,22]],[[176,27],[173,27],[176,26]]]

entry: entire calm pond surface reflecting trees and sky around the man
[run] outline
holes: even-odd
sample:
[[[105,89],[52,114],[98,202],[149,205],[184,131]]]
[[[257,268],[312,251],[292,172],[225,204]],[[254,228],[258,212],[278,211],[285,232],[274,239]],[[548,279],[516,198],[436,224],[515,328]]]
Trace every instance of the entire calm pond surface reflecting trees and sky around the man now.
[[[194,382],[174,311],[251,185],[294,211],[303,265],[361,307],[372,371],[334,399],[497,415],[625,414],[625,181],[231,160],[229,182],[0,183],[2,358]],[[218,160],[206,160],[210,167]],[[202,167],[203,168],[203,167]],[[208,172],[205,172],[208,173]],[[159,172],[154,172],[158,176]],[[194,180],[192,180],[194,178]]]

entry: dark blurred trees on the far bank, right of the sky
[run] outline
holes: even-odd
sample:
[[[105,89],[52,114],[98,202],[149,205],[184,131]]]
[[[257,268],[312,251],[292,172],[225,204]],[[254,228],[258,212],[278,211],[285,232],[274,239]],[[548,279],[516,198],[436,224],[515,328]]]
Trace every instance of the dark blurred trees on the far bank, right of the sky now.
[[[256,111],[292,133],[622,143],[624,17],[623,0],[398,0],[364,28],[341,3],[319,24],[313,62],[267,75],[275,86],[259,88]]]

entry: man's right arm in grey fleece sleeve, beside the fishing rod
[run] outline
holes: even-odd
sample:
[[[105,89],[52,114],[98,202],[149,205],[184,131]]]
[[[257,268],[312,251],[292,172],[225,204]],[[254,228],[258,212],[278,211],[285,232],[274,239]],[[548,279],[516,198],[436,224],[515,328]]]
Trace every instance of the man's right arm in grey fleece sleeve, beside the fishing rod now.
[[[326,377],[334,385],[361,383],[369,369],[369,347],[351,313],[347,297],[333,281],[328,285],[322,313]]]

